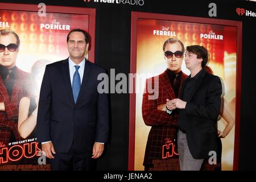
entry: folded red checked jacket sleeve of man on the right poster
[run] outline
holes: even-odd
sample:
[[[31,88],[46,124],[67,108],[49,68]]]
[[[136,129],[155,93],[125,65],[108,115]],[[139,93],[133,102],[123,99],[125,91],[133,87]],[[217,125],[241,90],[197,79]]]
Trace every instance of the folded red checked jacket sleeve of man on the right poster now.
[[[156,85],[155,82],[157,82]],[[155,85],[154,92],[148,89],[148,84]],[[152,86],[149,86],[149,88],[152,88]],[[166,104],[166,98],[162,95],[166,90],[162,89],[164,88],[159,85],[159,81],[156,80],[156,77],[147,79],[142,99],[142,117],[147,126],[177,125],[177,115],[170,115],[166,111],[158,110],[157,108],[160,104]]]

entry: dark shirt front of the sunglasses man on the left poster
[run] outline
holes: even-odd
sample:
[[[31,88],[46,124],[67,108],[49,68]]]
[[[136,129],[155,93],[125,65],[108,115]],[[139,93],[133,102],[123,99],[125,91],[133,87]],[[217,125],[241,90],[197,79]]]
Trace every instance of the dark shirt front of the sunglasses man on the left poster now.
[[[5,83],[5,88],[9,94],[11,100],[11,93],[13,93],[14,81],[16,79],[17,67],[11,68],[10,70],[0,65],[0,75]],[[8,76],[9,75],[9,76]]]

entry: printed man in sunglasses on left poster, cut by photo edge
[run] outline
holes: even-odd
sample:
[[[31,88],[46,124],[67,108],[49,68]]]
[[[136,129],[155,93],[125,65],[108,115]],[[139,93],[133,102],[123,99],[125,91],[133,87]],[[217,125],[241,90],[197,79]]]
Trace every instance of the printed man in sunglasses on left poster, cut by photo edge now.
[[[0,142],[20,140],[19,102],[27,93],[28,73],[16,67],[19,36],[12,30],[0,30]]]

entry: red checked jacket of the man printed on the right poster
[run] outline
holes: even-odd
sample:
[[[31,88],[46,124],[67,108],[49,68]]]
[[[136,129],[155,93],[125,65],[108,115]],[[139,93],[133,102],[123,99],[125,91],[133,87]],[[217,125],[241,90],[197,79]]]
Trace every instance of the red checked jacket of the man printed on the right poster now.
[[[187,75],[182,73],[180,78],[180,88],[185,78],[187,78]],[[166,104],[167,98],[169,100],[176,98],[175,93],[172,89],[172,85],[166,71],[158,76],[158,80],[159,84],[157,94],[150,94],[148,90],[143,93],[142,117],[144,123],[151,126],[150,133],[147,138],[143,165],[152,164],[152,160],[154,159],[169,159],[170,157],[163,151],[163,145],[167,145],[168,142],[174,143],[174,139],[176,138],[177,114],[170,115],[167,114],[166,111],[158,110],[157,108],[160,104]],[[152,86],[154,86],[156,77],[147,79],[146,88],[150,81],[152,82]],[[148,96],[152,96],[154,94],[156,98],[148,99]],[[175,154],[172,156],[175,157]]]

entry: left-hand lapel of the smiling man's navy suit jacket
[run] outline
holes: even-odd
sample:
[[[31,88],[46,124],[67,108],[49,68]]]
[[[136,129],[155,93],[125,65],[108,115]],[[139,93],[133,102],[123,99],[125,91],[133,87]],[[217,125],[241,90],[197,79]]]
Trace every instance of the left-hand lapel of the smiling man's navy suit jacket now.
[[[71,86],[71,80],[70,80],[70,74],[69,74],[69,64],[68,59],[65,59],[63,61],[62,67],[61,67],[61,73],[64,78],[64,84],[67,87],[69,97],[72,101],[72,103],[75,105],[75,101],[73,98],[73,92],[72,92],[72,86]]]

